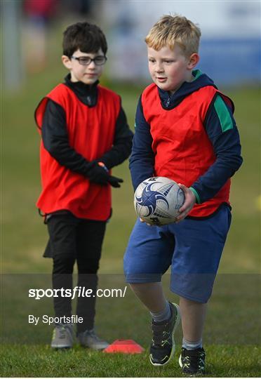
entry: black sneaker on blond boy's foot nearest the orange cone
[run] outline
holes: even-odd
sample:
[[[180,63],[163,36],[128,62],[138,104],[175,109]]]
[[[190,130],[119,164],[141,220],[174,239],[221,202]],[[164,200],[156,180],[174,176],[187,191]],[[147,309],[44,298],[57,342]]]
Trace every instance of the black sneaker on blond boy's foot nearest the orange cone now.
[[[152,345],[149,350],[149,360],[154,366],[168,364],[175,352],[174,333],[180,323],[180,307],[172,302],[171,316],[168,321],[156,323],[152,320]]]

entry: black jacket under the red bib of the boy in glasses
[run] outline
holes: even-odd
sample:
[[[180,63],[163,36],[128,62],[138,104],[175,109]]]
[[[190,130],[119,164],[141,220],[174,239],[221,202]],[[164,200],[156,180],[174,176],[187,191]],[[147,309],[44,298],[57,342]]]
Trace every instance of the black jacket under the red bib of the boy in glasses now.
[[[65,85],[74,91],[77,98],[86,107],[95,107],[98,100],[98,81],[93,86],[70,81],[70,74],[65,77]],[[69,145],[66,128],[65,110],[53,100],[48,100],[42,125],[44,147],[59,164],[76,173],[86,175],[87,161]],[[99,160],[107,168],[121,164],[131,154],[133,132],[128,126],[126,114],[121,107],[116,119],[115,136],[112,149]]]

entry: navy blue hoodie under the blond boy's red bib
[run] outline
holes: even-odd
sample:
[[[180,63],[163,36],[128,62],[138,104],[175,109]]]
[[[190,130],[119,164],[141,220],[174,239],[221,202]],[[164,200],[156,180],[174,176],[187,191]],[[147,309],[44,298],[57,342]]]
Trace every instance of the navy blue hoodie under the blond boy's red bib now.
[[[177,107],[189,94],[204,86],[217,88],[213,80],[206,74],[202,74],[200,70],[195,70],[192,74],[194,75],[194,80],[191,82],[185,81],[173,95],[169,95],[168,91],[158,88],[163,109],[168,110]],[[213,98],[206,113],[203,126],[206,128],[206,133],[213,145],[217,159],[191,187],[196,195],[198,204],[214,197],[242,164],[239,131],[236,127],[233,113],[233,103],[232,107],[229,107],[220,95]],[[228,122],[230,123],[229,128],[227,128]],[[138,187],[140,182],[154,175],[152,135],[150,134],[150,126],[143,114],[141,98],[139,99],[135,116],[135,135],[130,158],[130,169],[134,189]]]

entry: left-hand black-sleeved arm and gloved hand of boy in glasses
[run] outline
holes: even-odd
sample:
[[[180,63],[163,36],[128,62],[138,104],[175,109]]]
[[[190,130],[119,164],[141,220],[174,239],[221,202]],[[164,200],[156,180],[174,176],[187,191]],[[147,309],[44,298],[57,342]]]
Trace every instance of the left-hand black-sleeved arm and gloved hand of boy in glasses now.
[[[120,187],[119,182],[95,161],[87,161],[70,145],[67,135],[65,110],[53,100],[48,100],[44,113],[41,135],[45,149],[61,166],[85,176],[92,182]]]

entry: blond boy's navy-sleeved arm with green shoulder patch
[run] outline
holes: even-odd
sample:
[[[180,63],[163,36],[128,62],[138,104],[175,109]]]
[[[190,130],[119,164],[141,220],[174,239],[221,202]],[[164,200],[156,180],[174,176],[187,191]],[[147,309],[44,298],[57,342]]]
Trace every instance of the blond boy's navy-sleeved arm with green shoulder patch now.
[[[214,197],[243,161],[239,131],[232,110],[220,95],[210,105],[204,124],[217,159],[190,187],[198,204]]]

